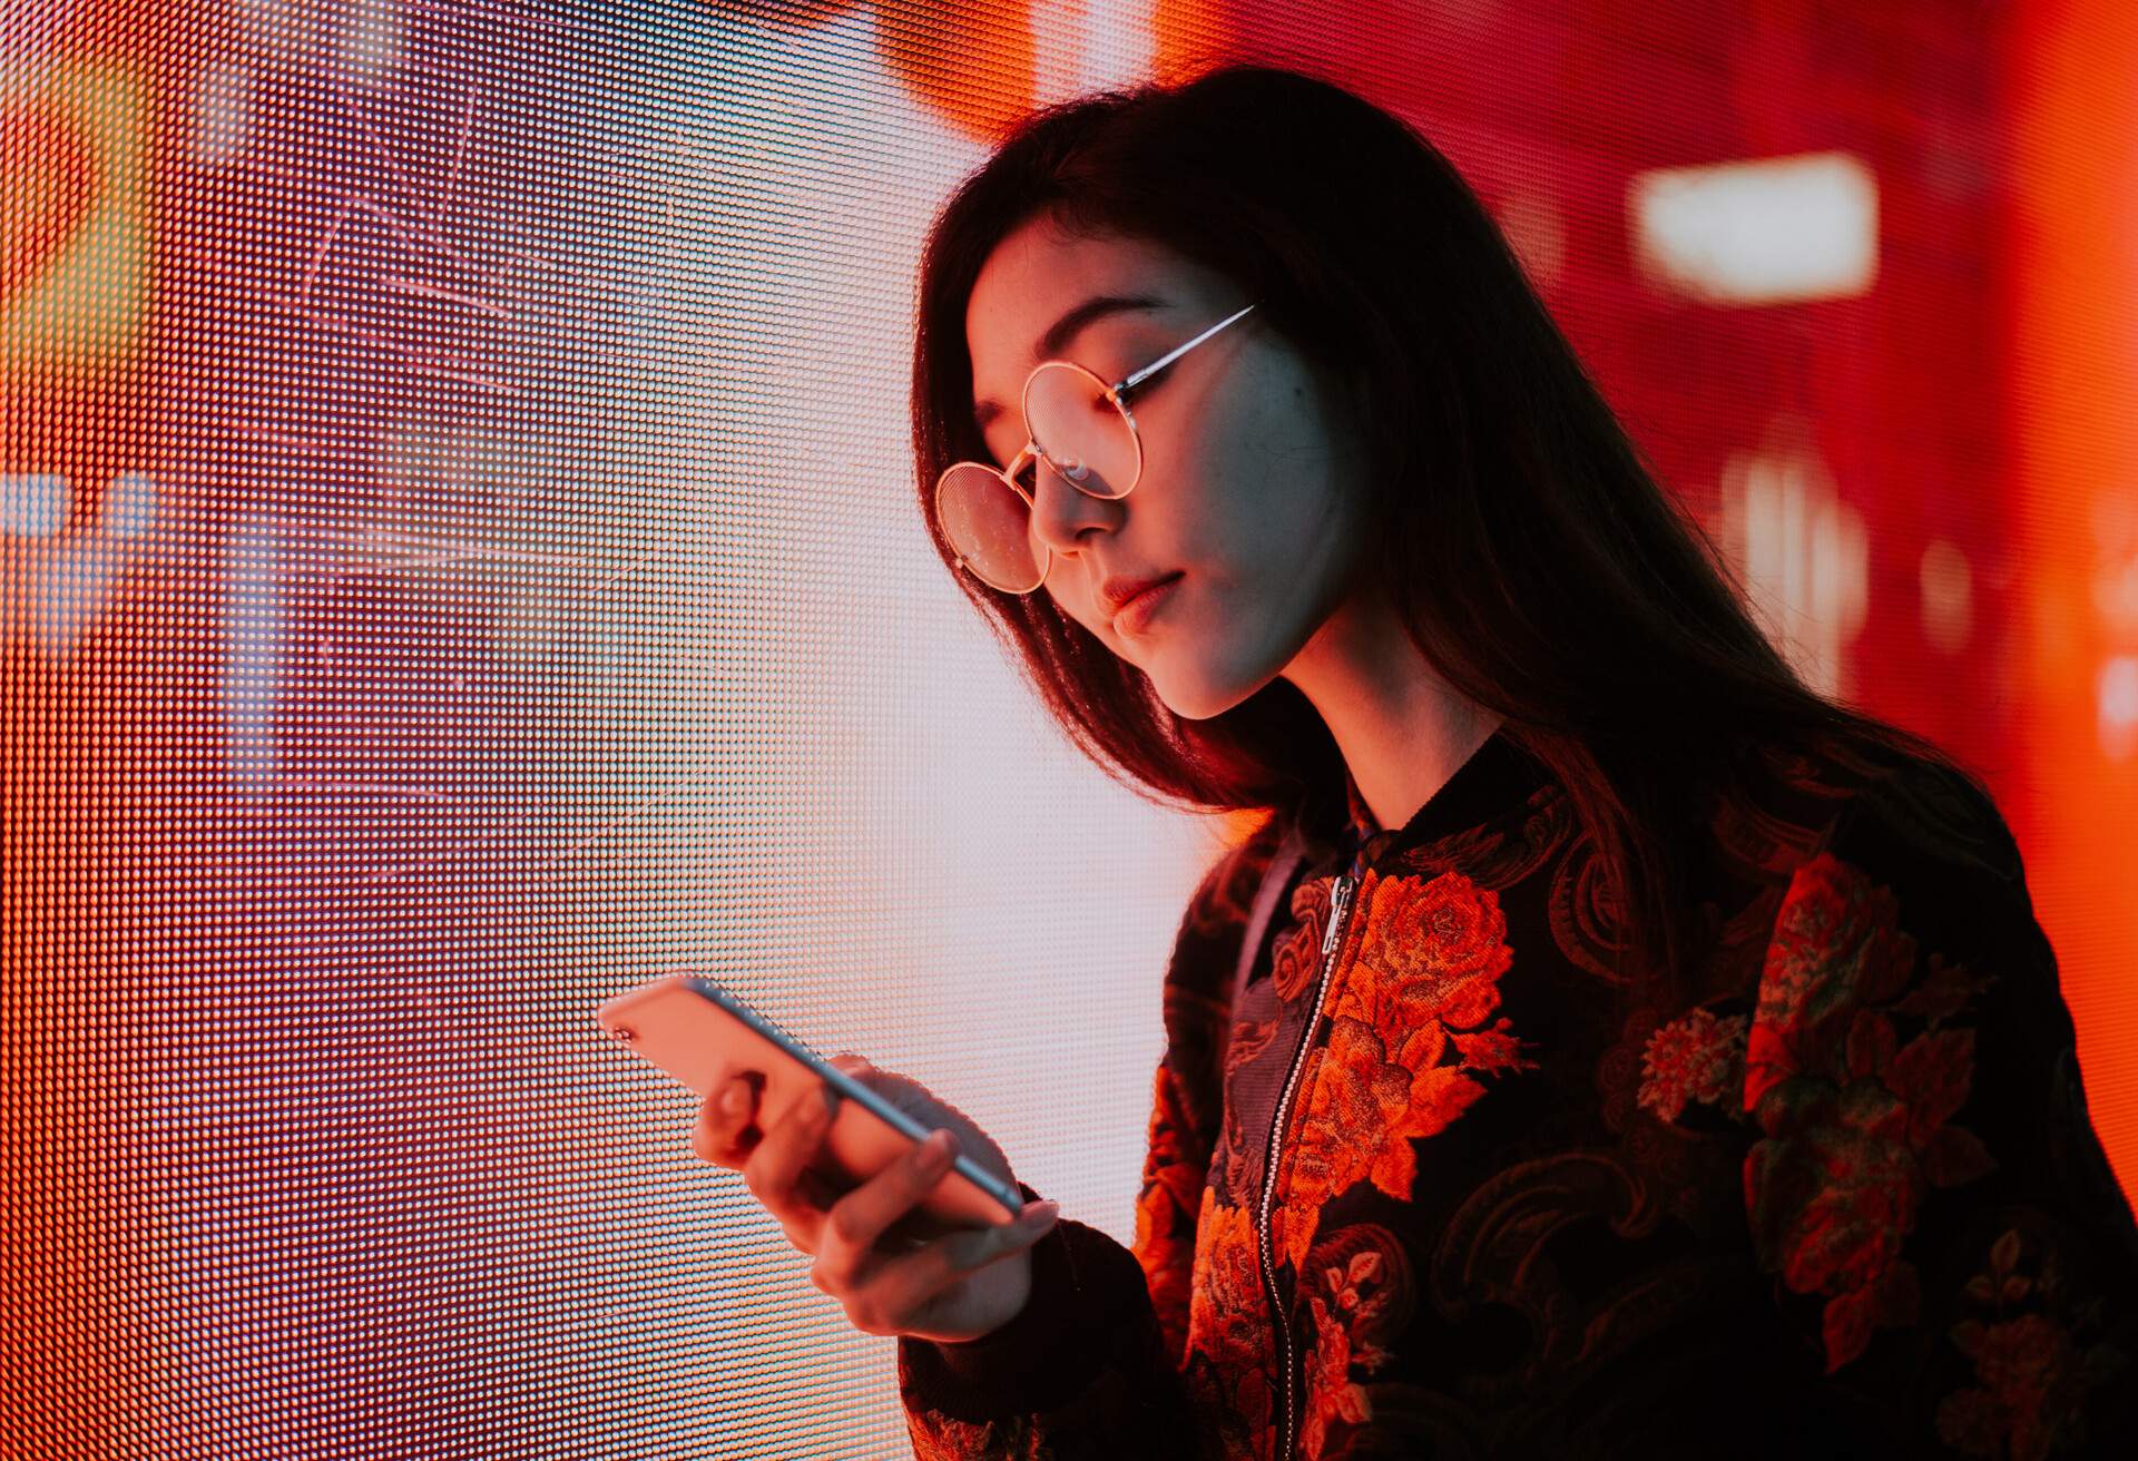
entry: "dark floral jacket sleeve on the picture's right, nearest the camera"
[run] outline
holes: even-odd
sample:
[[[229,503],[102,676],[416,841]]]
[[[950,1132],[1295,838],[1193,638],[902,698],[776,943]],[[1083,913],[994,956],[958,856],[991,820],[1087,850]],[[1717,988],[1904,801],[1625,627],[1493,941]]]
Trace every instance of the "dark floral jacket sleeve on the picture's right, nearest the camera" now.
[[[1781,903],[1745,1044],[1753,1251],[1837,1433],[2129,1455],[2138,1228],[2057,958],[1997,809],[1948,772],[1918,796],[1926,824],[1852,804]]]

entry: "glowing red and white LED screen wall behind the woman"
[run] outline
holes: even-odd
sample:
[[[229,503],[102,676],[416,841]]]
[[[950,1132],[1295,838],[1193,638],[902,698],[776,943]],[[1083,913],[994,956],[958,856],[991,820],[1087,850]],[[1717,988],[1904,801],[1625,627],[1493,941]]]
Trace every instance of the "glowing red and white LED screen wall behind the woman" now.
[[[904,1455],[693,1102],[703,969],[1133,1232],[1238,826],[928,548],[913,261],[1221,58],[1471,178],[1804,672],[1982,766],[2138,1181],[2125,6],[11,0],[4,1450]]]

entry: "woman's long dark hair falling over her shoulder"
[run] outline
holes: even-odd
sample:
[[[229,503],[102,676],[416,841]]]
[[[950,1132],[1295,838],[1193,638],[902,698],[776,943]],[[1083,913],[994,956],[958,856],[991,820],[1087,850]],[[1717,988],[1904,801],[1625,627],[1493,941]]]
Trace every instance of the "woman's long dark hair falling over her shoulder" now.
[[[1933,742],[1798,678],[1430,141],[1328,81],[1223,66],[1022,120],[943,205],[919,270],[913,443],[936,552],[1071,740],[1152,800],[1302,815],[1345,768],[1287,680],[1184,721],[1048,595],[956,569],[930,503],[947,464],[988,458],[966,297],[1035,216],[1227,276],[1343,383],[1364,432],[1368,567],[1441,678],[1567,787],[1629,922],[1621,965],[1685,973],[1698,787],[1751,774],[1772,747],[1926,762],[1988,798]]]

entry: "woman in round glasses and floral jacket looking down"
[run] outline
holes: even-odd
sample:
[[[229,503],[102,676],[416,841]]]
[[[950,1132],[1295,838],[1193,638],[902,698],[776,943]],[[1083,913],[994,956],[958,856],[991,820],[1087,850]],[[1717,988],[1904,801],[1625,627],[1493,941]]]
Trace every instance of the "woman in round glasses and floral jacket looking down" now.
[[[834,1200],[821,1121],[706,1104],[900,1337],[919,1455],[2138,1429],[2138,1230],[2003,819],[1792,674],[1426,141],[1270,68],[1035,116],[934,225],[913,419],[1080,744],[1272,813],[1180,926],[1133,1254],[915,1236],[947,1147]]]

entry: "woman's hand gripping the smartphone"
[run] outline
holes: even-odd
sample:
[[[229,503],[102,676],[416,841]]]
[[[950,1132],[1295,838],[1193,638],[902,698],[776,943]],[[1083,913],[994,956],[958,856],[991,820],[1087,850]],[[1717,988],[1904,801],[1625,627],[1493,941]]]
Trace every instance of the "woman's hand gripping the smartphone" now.
[[[838,1093],[830,1085],[793,1104],[776,1127],[757,1132],[755,1072],[729,1072],[699,1108],[693,1151],[742,1172],[787,1241],[815,1256],[810,1283],[836,1298],[864,1335],[958,1341],[988,1335],[1022,1309],[1033,1290],[1031,1245],[1054,1226],[1054,1202],[1031,1202],[996,1228],[945,1228],[915,1211],[958,1151],[1011,1181],[1009,1162],[964,1112],[917,1080],[874,1070],[855,1055],[832,1061],[934,1134],[859,1187],[834,1194],[810,1170]]]

